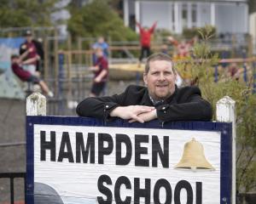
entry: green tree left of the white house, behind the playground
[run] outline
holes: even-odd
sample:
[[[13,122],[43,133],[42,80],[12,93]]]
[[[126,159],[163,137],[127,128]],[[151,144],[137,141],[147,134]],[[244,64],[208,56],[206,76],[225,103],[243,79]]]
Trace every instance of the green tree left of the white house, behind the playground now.
[[[137,39],[137,34],[125,27],[123,20],[105,0],[94,0],[82,8],[71,7],[68,30],[73,37],[111,37],[113,41]]]

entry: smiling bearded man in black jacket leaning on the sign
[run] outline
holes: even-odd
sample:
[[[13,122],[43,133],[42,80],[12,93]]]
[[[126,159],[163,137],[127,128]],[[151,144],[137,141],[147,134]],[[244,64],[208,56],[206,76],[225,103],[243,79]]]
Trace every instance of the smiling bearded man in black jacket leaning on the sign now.
[[[176,71],[166,54],[148,57],[143,80],[147,87],[129,86],[123,94],[84,99],[79,116],[108,121],[119,117],[129,122],[148,122],[158,118],[167,121],[210,121],[212,107],[201,98],[197,87],[177,88]]]

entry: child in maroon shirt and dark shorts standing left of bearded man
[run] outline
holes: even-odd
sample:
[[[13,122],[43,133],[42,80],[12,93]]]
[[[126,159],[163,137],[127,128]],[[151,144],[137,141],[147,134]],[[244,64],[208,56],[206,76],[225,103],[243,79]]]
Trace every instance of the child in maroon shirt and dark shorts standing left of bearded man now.
[[[90,70],[94,72],[90,96],[99,96],[108,81],[108,60],[104,56],[102,48],[96,48],[96,65],[90,67]]]

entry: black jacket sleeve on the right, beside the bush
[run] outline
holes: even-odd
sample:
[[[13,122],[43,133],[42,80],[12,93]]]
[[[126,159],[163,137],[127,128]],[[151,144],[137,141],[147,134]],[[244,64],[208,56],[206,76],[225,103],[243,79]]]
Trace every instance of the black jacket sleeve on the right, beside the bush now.
[[[191,87],[184,92],[180,103],[157,108],[160,121],[211,121],[212,106],[201,98],[200,89]]]

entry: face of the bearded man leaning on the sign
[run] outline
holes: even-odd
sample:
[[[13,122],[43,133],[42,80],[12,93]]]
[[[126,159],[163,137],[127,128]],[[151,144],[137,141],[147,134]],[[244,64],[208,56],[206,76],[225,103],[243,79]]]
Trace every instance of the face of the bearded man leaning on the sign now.
[[[167,99],[175,91],[176,73],[172,71],[172,63],[166,60],[149,62],[149,71],[143,79],[148,93],[153,99]]]

